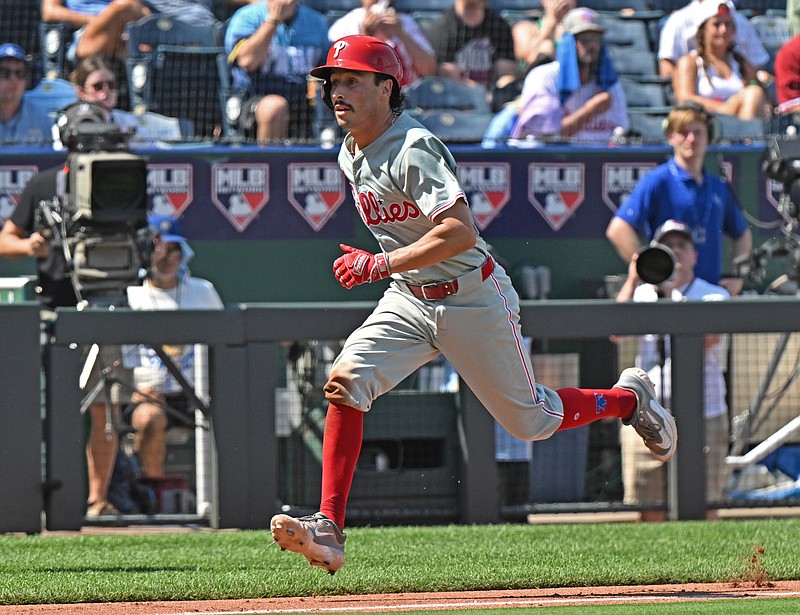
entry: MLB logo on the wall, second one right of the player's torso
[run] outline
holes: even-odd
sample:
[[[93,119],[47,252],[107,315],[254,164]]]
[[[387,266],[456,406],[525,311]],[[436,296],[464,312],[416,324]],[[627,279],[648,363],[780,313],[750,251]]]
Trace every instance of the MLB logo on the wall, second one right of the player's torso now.
[[[584,174],[583,163],[528,165],[528,200],[554,231],[583,203]]]

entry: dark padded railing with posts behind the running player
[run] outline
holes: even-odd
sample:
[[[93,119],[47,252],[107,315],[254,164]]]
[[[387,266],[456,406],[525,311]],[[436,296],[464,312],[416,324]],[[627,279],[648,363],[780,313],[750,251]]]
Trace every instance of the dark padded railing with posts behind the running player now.
[[[78,381],[80,345],[92,343],[208,344],[216,449],[216,494],[209,524],[266,527],[278,501],[275,408],[268,401],[275,399],[278,383],[278,345],[287,337],[344,338],[372,306],[369,302],[242,304],[221,312],[59,309],[43,355],[48,376],[42,417],[38,306],[0,305],[4,324],[0,531],[39,532],[42,511],[48,530],[75,530],[82,525]],[[669,464],[668,515],[704,519],[704,335],[800,331],[797,308],[796,297],[765,296],[708,303],[523,301],[522,322],[525,335],[538,339],[672,335],[672,394],[680,447]],[[461,387],[460,395],[460,521],[497,522],[495,445],[494,438],[487,437],[493,433],[492,419],[467,387]]]

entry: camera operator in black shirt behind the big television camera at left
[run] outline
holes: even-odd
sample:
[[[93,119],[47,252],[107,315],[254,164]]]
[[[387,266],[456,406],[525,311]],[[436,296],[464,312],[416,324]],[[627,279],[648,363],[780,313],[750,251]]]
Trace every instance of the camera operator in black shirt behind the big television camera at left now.
[[[64,129],[74,128],[84,123],[105,123],[105,113],[101,107],[86,103],[72,105],[64,110],[66,122]],[[66,135],[62,136],[64,142]],[[56,165],[41,171],[30,179],[23,190],[14,211],[0,230],[0,257],[16,259],[36,258],[38,283],[36,292],[44,308],[44,318],[57,307],[74,307],[79,302],[79,294],[74,287],[66,256],[53,235],[53,229],[42,219],[43,204],[58,201],[66,165]],[[88,356],[88,349],[85,357]],[[100,365],[110,365],[119,358],[118,348],[101,348],[98,361],[95,361],[92,375],[86,390],[94,388],[100,377]],[[88,467],[88,505],[86,516],[119,514],[108,503],[107,492],[114,460],[117,452],[117,405],[111,399],[99,396],[89,407],[91,426],[86,444]]]

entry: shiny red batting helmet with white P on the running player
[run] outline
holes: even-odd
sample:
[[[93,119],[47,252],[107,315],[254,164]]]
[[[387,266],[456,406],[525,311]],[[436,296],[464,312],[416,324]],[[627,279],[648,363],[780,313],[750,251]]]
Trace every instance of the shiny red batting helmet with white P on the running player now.
[[[312,69],[311,76],[327,81],[334,68],[381,73],[398,83],[403,78],[403,65],[394,48],[363,34],[343,36],[331,45],[325,64]]]

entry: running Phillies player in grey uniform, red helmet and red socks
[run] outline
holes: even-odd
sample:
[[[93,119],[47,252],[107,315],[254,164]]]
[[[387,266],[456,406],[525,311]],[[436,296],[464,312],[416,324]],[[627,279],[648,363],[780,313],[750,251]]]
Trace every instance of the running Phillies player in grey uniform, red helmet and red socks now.
[[[444,144],[402,112],[400,60],[370,36],[345,36],[326,64],[323,100],[347,131],[339,164],[356,207],[380,245],[342,245],[333,274],[345,288],[391,278],[375,310],[344,344],[325,396],[320,512],[276,515],[272,536],[334,574],[344,565],[345,509],[358,459],[364,414],[440,353],[492,416],[523,440],[616,417],[633,426],[653,456],[667,461],[675,421],[655,400],[647,374],[622,372],[611,389],[538,384],[524,350],[519,298],[478,235],[456,163]]]

